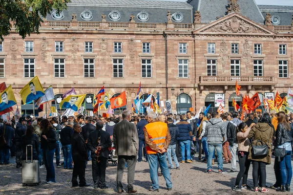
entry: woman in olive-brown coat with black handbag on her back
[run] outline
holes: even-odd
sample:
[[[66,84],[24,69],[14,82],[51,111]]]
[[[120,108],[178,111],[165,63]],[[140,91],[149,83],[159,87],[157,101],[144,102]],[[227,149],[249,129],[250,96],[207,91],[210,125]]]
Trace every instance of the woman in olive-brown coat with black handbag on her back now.
[[[254,192],[258,192],[258,170],[260,169],[261,192],[269,192],[266,188],[266,165],[272,161],[272,135],[274,129],[268,113],[264,113],[259,122],[250,131],[252,139],[248,159],[252,161],[252,178]]]

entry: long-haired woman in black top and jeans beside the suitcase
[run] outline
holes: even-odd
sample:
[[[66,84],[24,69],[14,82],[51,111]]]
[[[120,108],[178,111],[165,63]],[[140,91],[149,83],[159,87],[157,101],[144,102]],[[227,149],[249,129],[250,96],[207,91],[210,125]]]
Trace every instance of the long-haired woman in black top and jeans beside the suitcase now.
[[[54,168],[54,153],[56,149],[56,132],[48,119],[41,121],[41,148],[43,161],[46,167],[47,176],[46,181],[48,184],[56,183],[55,168]]]

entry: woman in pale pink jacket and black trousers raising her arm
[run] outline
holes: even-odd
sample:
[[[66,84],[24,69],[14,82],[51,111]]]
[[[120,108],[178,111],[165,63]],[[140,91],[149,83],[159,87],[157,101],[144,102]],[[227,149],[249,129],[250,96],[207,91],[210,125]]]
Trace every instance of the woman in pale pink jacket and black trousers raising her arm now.
[[[246,123],[240,123],[238,126],[237,140],[238,140],[239,173],[237,174],[237,177],[236,177],[235,186],[232,188],[232,190],[235,192],[241,192],[241,189],[251,190],[251,187],[246,185],[247,175],[248,175],[249,167],[251,164],[251,161],[248,160],[248,154],[249,154],[248,151],[249,151],[250,141],[247,138],[247,136],[254,125],[255,123],[251,123],[250,127],[248,127]],[[241,188],[239,188],[241,178],[243,178],[242,186]]]

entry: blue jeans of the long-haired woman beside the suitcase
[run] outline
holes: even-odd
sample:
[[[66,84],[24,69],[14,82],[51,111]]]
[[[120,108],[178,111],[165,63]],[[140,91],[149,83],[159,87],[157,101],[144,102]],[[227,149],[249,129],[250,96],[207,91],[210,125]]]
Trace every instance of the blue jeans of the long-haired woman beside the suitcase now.
[[[47,176],[46,181],[56,182],[55,178],[55,168],[54,168],[54,152],[56,149],[48,151],[48,149],[43,149],[43,161],[46,167]]]

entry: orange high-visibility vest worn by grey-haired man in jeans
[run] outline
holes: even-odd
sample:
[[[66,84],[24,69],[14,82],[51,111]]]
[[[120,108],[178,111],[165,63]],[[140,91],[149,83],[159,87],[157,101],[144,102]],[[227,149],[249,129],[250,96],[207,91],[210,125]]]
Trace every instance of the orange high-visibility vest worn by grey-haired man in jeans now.
[[[159,148],[163,148],[165,140],[166,140],[167,130],[168,130],[167,124],[158,121],[158,122],[148,123],[145,126],[145,128],[152,143],[157,145],[157,147]],[[153,151],[152,149],[150,149],[148,146],[146,146],[146,152],[147,154],[157,153]]]

